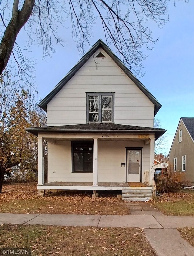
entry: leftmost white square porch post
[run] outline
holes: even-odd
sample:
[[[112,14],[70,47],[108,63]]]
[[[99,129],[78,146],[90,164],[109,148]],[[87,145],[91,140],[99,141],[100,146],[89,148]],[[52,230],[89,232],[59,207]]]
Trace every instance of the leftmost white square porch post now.
[[[44,184],[43,139],[38,137],[38,185]]]

